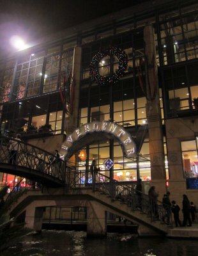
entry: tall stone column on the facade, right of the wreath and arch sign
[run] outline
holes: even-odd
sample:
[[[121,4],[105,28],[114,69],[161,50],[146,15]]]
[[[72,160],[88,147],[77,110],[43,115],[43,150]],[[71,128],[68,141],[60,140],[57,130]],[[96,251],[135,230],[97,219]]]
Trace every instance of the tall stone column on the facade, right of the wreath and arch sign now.
[[[149,131],[149,152],[151,159],[151,186],[159,192],[159,200],[166,191],[164,138],[158,90],[155,36],[152,25],[144,28],[146,51],[146,116]]]

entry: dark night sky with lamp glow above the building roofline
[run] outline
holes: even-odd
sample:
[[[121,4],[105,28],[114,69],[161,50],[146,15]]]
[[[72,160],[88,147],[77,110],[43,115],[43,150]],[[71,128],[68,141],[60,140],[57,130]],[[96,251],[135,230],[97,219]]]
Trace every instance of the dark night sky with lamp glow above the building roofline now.
[[[26,42],[146,0],[0,0],[0,48],[11,35]]]

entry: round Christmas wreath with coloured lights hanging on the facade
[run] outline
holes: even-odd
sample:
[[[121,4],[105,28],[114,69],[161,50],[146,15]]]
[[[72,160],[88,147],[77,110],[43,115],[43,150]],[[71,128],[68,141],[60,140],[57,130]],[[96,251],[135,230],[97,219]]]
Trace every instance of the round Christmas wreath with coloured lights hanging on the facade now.
[[[100,76],[98,71],[98,63],[102,58],[105,56],[117,56],[119,60],[118,70],[112,76],[105,77]],[[125,74],[125,70],[127,67],[127,56],[124,51],[117,47],[110,47],[104,52],[98,52],[95,56],[93,56],[91,60],[91,70],[90,70],[90,77],[91,81],[96,82],[101,85],[105,85],[108,83],[116,83],[118,82],[119,78],[121,78]]]

